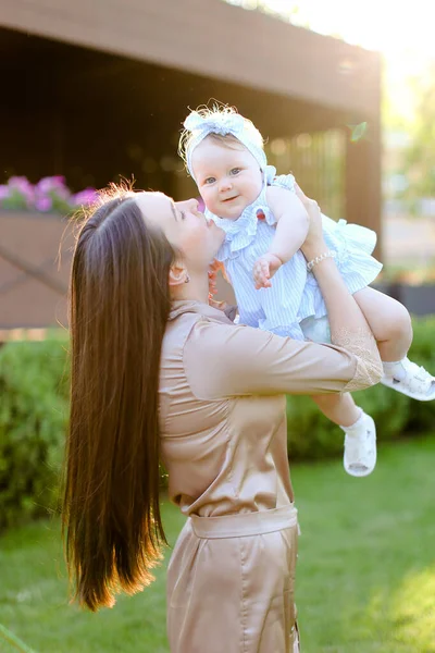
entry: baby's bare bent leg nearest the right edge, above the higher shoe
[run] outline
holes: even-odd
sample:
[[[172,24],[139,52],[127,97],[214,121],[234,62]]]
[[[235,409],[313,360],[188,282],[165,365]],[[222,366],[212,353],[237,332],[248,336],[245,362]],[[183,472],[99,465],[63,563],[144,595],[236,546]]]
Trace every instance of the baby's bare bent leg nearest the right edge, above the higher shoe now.
[[[353,297],[373,332],[382,360],[405,358],[412,343],[411,317],[405,306],[369,287]]]

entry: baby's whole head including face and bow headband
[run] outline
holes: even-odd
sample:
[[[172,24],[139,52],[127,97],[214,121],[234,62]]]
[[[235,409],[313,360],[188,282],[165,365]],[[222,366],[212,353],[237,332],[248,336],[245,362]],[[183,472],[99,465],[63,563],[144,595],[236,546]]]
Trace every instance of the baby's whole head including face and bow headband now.
[[[237,220],[263,186],[268,162],[260,132],[228,107],[192,111],[184,126],[179,153],[207,208]]]

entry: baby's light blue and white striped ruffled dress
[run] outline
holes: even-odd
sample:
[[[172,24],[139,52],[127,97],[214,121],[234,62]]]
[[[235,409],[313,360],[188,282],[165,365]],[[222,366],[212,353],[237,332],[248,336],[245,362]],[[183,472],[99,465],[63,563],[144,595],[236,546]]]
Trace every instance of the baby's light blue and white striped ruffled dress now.
[[[272,182],[295,192],[295,177],[279,175]],[[271,246],[276,220],[266,202],[266,184],[259,197],[233,221],[206,210],[206,215],[224,230],[226,237],[217,254],[236,296],[240,323],[288,335],[295,340],[328,342],[326,306],[312,272],[299,250],[272,278],[271,288],[256,289],[253,264]],[[258,215],[263,214],[263,219]],[[376,234],[363,226],[335,222],[322,214],[326,246],[337,254],[336,263],[351,294],[373,282],[382,263],[371,254]]]

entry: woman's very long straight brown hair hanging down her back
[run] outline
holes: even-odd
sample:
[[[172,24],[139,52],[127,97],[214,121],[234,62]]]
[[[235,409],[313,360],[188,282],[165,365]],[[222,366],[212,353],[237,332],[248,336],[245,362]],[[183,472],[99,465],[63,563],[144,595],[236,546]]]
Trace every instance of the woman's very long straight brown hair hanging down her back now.
[[[133,193],[103,198],[78,233],[63,534],[74,597],[91,611],[149,584],[165,542],[158,390],[173,260]]]

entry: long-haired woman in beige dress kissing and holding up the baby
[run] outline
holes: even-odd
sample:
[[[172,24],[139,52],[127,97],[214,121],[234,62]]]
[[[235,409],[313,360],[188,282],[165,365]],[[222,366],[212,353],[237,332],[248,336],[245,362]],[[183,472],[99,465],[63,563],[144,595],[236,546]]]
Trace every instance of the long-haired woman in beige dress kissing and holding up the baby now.
[[[299,194],[303,246],[335,345],[243,325],[208,305],[223,232],[196,200],[119,190],[85,221],[71,286],[72,404],[64,526],[80,604],[152,580],[165,542],[159,456],[188,517],[167,572],[173,653],[299,651],[297,513],[285,393],[381,379],[375,342]],[[346,316],[344,322],[338,316]]]

